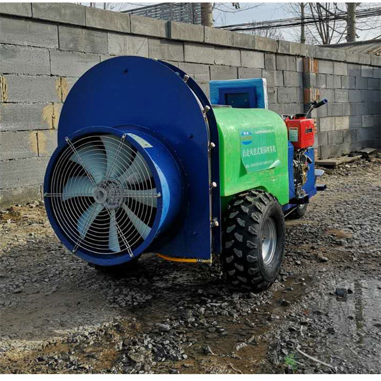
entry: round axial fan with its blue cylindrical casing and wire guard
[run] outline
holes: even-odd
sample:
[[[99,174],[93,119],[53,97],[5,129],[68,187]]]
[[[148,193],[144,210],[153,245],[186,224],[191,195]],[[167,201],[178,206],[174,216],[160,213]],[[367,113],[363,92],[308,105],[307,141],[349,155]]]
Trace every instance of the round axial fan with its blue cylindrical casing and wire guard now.
[[[174,158],[154,140],[159,151],[150,156],[142,146],[153,146],[133,133],[66,140],[45,193],[53,227],[73,252],[92,263],[137,257],[180,209],[181,180]],[[157,171],[158,165],[168,169],[168,178]]]

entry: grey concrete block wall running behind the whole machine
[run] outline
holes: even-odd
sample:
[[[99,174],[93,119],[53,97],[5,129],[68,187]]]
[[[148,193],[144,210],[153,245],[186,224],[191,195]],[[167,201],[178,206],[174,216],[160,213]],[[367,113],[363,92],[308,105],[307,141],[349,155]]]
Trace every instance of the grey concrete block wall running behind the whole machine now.
[[[98,62],[171,62],[209,96],[209,81],[263,77],[269,108],[314,114],[322,157],[379,147],[381,57],[75,4],[0,3],[0,206],[41,198],[63,101]]]

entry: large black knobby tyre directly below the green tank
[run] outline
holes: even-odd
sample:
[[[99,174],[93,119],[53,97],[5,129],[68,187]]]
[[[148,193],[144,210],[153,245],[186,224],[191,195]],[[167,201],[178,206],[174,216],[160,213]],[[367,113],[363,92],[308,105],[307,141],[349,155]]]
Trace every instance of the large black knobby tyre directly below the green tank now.
[[[268,219],[271,221],[267,221]],[[272,226],[272,255],[264,260],[263,234]],[[271,236],[271,234],[268,234]],[[284,255],[284,215],[278,201],[255,189],[234,196],[228,204],[223,226],[221,259],[228,281],[234,286],[263,291],[279,274]],[[264,253],[268,253],[264,247]]]

